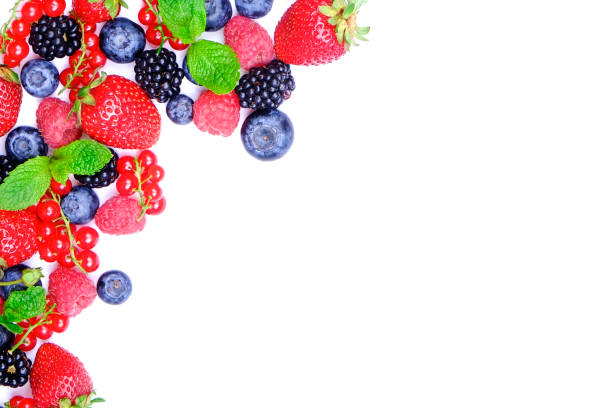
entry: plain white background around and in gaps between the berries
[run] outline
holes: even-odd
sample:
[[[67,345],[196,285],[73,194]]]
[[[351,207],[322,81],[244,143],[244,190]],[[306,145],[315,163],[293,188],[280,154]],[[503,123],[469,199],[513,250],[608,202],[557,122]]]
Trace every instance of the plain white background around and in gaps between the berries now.
[[[274,163],[162,112],[168,209],[98,247],[134,294],[53,341],[113,408],[610,407],[611,12],[371,1]]]

